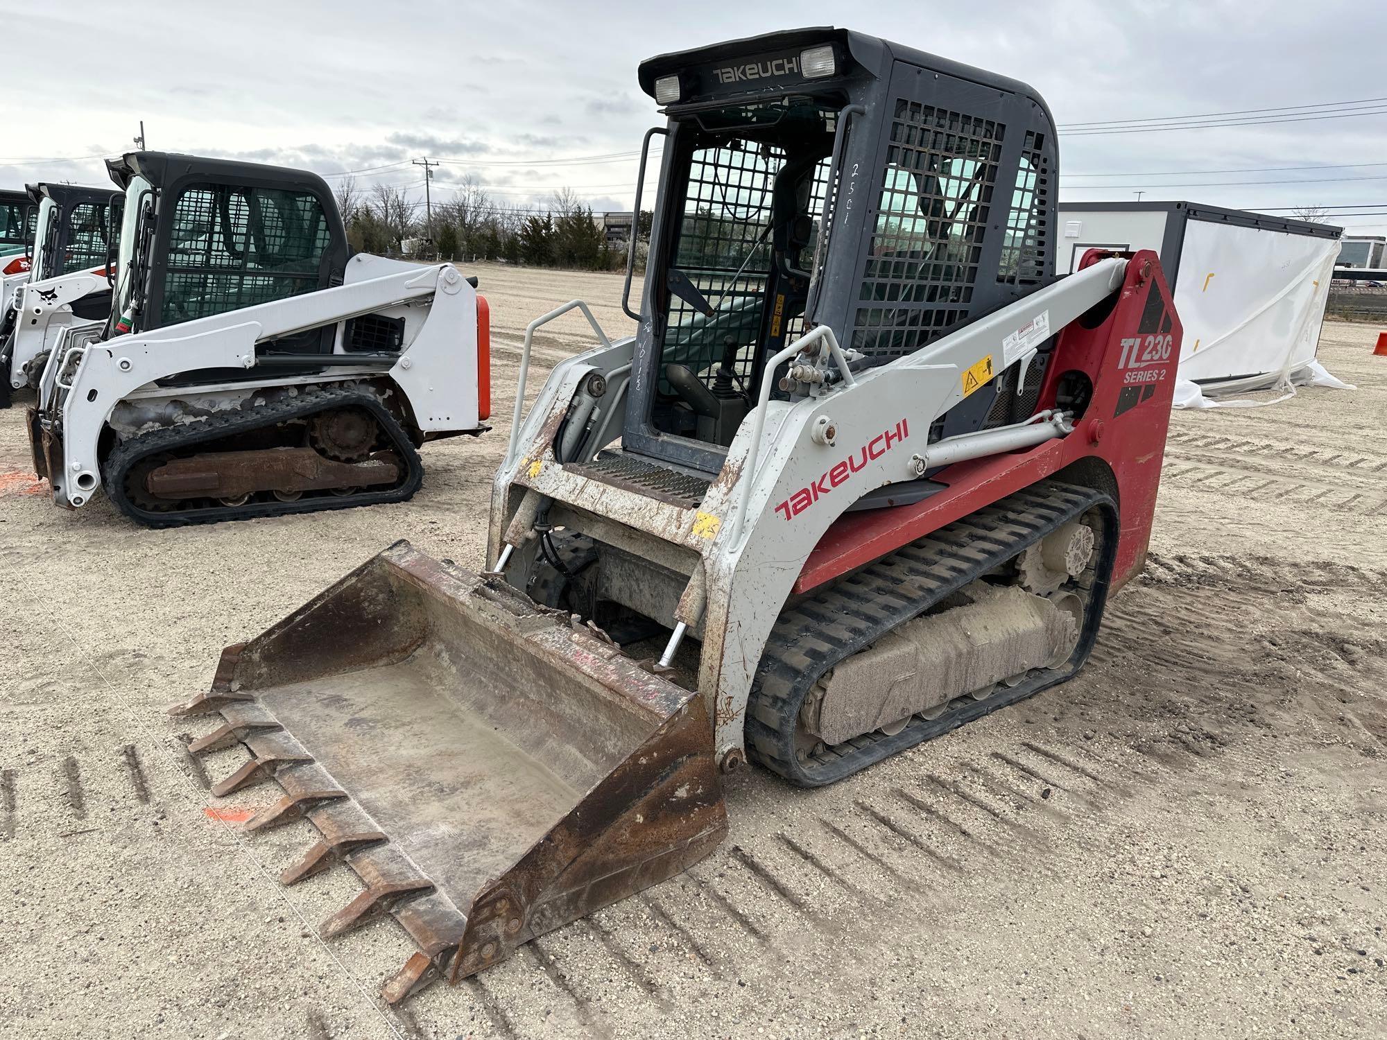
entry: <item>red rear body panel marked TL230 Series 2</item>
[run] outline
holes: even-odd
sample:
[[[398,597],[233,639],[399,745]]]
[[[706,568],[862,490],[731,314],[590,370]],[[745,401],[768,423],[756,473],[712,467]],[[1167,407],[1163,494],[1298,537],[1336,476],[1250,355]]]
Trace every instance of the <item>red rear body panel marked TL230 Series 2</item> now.
[[[1111,254],[1092,250],[1080,266],[1105,255]],[[1117,499],[1121,535],[1112,588],[1121,588],[1146,563],[1180,336],[1161,262],[1143,250],[1128,263],[1107,318],[1093,329],[1082,322],[1067,326],[1046,369],[1037,409],[1054,408],[1067,372],[1082,372],[1093,384],[1072,434],[950,466],[933,477],[949,488],[915,505],[845,513],[809,555],[795,592],[832,581],[1060,470],[1071,483],[1103,487]]]

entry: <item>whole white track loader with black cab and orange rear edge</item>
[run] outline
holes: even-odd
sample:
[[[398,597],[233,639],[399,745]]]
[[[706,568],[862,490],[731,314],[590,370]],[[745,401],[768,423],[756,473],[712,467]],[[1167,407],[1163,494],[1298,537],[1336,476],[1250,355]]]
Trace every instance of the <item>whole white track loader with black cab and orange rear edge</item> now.
[[[104,491],[150,527],[401,502],[419,447],[487,428],[488,312],[451,263],[348,257],[312,173],[164,153],[110,168],[110,316],[61,331],[29,412],[54,502]]]

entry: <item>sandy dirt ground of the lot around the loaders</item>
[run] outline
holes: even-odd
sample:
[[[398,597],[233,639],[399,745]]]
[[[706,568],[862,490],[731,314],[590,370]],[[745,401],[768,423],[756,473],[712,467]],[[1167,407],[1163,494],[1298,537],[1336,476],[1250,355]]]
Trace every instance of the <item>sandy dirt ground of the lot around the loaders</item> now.
[[[732,778],[688,874],[394,1012],[412,951],[311,842],[239,832],[168,703],[408,537],[481,562],[524,323],[620,279],[481,268],[497,428],[406,505],[147,531],[54,509],[0,413],[0,1036],[1387,1036],[1387,358],[1354,392],[1176,413],[1150,567],[1075,681],[825,790]],[[584,343],[569,316],[540,341]],[[544,372],[531,373],[531,392]]]

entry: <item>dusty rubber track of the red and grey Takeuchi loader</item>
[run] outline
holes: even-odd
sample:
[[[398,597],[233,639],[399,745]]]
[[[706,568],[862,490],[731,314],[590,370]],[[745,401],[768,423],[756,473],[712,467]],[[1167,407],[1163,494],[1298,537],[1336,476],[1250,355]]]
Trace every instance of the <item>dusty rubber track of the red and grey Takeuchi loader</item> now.
[[[1092,585],[1079,589],[1087,592],[1083,631],[1064,666],[1035,670],[985,700],[957,697],[938,718],[915,716],[893,736],[875,731],[796,759],[800,706],[829,668],[1094,506],[1104,517],[1097,566]],[[746,706],[748,753],[793,783],[820,786],[1071,678],[1103,620],[1117,530],[1117,508],[1104,492],[1042,481],[809,593],[781,613],[766,643]]]

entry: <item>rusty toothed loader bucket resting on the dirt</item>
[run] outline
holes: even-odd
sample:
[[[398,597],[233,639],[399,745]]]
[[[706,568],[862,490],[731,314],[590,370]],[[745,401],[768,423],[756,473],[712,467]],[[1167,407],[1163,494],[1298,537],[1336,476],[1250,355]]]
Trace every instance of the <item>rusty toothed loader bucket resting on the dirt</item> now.
[[[320,835],[282,881],[345,863],[366,889],[322,926],[391,914],[419,946],[397,1003],[655,885],[727,832],[703,699],[563,613],[397,542],[248,643],[171,709],[216,713],[200,753],[275,779],[248,831]]]

